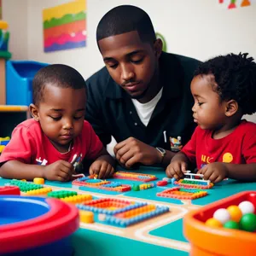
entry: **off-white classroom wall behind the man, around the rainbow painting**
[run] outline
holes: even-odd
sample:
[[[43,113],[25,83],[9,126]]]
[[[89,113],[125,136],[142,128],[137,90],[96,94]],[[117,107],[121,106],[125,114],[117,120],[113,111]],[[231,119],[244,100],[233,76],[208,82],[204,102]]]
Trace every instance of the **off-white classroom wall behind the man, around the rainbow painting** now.
[[[71,0],[3,0],[3,19],[11,32],[13,59],[64,63],[90,77],[103,66],[96,26],[109,9],[134,4],[148,12],[169,52],[204,61],[229,52],[249,52],[256,59],[256,4],[226,10],[218,0],[87,0],[87,46],[44,53],[42,10]],[[256,117],[253,118],[256,121]]]

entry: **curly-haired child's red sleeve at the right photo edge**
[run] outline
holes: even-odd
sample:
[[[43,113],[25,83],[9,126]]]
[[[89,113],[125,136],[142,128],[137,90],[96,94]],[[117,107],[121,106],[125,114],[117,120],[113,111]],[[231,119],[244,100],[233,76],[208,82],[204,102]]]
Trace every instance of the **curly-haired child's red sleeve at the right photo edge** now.
[[[247,131],[241,150],[247,164],[256,163],[256,131]]]

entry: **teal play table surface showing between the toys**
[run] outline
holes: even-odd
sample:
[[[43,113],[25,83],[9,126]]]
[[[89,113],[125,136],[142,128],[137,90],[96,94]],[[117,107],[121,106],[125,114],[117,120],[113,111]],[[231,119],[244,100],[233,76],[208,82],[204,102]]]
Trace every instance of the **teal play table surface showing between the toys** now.
[[[134,170],[133,172],[142,172],[147,174],[153,174],[158,177],[158,180],[166,177],[164,170],[160,168],[154,167],[141,167],[138,170]],[[113,180],[113,179],[108,179]],[[156,183],[158,180],[154,181]],[[127,180],[118,180],[114,179],[114,181],[120,181],[125,184],[133,184],[133,183],[141,183]],[[0,185],[4,185],[8,183],[8,179],[0,178]],[[50,182],[46,181],[45,184],[56,186],[59,189],[61,188],[72,188],[72,184],[69,183],[60,183],[60,182]],[[125,192],[125,196],[136,197],[138,199],[148,199],[154,201],[161,202],[169,202],[173,204],[181,205],[182,202],[156,196],[156,193],[166,189],[171,188],[172,184],[168,184],[165,188],[155,187],[153,189],[145,189],[141,191],[128,191]],[[81,188],[80,188],[81,189]],[[97,192],[104,195],[118,195],[113,191],[102,191],[100,189],[90,189],[90,188],[82,188],[82,190]],[[246,190],[256,190],[256,183],[240,183],[236,180],[225,180],[221,183],[216,184],[212,189],[208,189],[208,195],[199,199],[192,201],[192,204],[197,206],[204,206],[213,201],[221,200],[230,195],[235,195],[241,191]],[[146,223],[146,222],[145,222]],[[185,241],[186,238],[183,236],[183,219],[180,218],[177,221],[174,221],[170,224],[166,224],[160,228],[155,230],[151,230],[149,232],[150,235],[164,237],[167,239],[173,239],[177,241]],[[143,241],[135,241],[132,239],[128,239],[125,237],[113,236],[110,234],[106,234],[96,230],[86,230],[80,228],[73,234],[73,246],[75,248],[75,255],[109,255],[109,256],[125,256],[125,255],[154,255],[156,253],[160,253],[164,255],[164,253],[168,253],[168,255],[188,255],[188,252],[178,251],[176,249],[172,249],[169,247],[160,247],[154,244],[149,244]]]

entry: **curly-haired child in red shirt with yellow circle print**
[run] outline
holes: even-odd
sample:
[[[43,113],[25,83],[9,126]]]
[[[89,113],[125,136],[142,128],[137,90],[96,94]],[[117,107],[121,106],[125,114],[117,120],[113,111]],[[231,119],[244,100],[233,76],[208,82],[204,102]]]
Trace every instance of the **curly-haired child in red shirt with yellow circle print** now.
[[[218,183],[225,177],[256,180],[256,124],[241,120],[256,112],[256,63],[247,54],[218,56],[201,64],[191,82],[197,128],[166,168],[183,177],[189,164]]]

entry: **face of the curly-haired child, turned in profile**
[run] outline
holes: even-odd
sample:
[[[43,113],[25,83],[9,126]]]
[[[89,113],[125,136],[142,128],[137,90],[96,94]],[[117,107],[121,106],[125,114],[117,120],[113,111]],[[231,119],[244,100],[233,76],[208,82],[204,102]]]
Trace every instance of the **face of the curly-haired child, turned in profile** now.
[[[192,108],[195,123],[201,129],[218,129],[224,125],[226,106],[220,101],[218,93],[213,90],[213,75],[198,75],[191,82],[191,93],[195,103]]]

